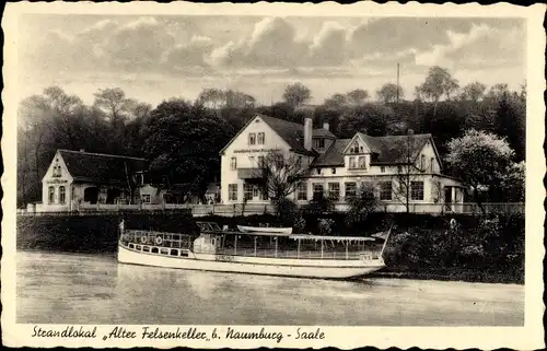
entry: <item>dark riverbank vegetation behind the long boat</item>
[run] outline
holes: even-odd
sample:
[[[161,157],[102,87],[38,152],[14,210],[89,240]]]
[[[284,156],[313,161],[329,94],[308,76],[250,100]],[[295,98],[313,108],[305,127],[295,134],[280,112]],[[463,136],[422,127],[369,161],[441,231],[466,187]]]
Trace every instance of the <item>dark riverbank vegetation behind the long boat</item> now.
[[[182,213],[123,215],[126,227],[197,234],[195,219]],[[235,227],[237,224],[283,224],[276,215],[206,217]],[[466,281],[524,284],[524,215],[430,215],[371,213],[348,224],[340,213],[328,218],[304,215],[301,233],[369,236],[393,224],[384,259],[386,267],[368,278]],[[18,249],[110,254],[116,251],[119,214],[101,217],[20,217]],[[450,226],[451,220],[457,225]],[[328,223],[328,224],[325,224]],[[302,224],[302,223],[301,223]]]

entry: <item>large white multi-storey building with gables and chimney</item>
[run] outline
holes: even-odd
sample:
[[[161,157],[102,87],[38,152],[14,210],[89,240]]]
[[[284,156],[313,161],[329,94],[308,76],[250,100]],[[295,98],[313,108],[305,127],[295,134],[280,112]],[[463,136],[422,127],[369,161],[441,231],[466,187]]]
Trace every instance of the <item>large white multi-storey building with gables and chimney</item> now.
[[[290,196],[299,204],[322,194],[344,208],[346,197],[354,195],[362,183],[371,183],[386,211],[405,211],[407,198],[410,211],[416,212],[462,207],[465,187],[442,174],[431,134],[357,132],[351,139],[337,139],[328,129],[328,124],[314,129],[310,118],[302,126],[256,115],[221,151],[222,203],[269,203],[256,169],[260,157],[278,150],[300,155],[310,167]],[[408,192],[400,190],[400,183],[409,184]]]

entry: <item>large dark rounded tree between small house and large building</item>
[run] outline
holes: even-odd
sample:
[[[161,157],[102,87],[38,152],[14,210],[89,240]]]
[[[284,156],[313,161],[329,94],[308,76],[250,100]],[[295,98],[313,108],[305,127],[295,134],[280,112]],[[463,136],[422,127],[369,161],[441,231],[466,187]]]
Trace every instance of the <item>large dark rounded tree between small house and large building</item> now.
[[[183,100],[162,102],[144,127],[142,150],[159,187],[183,185],[186,195],[202,197],[219,176],[219,151],[229,141],[226,122],[202,105]]]

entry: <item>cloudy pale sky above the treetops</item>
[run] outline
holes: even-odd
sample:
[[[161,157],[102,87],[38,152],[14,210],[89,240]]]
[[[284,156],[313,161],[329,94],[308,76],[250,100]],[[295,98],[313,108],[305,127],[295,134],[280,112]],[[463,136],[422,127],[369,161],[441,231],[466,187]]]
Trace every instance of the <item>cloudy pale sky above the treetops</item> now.
[[[270,104],[294,82],[312,104],[354,89],[374,98],[397,63],[409,100],[432,66],[461,86],[526,78],[526,22],[508,17],[24,14],[16,46],[22,98],[58,85],[90,104],[105,87],[153,106],[207,87]]]

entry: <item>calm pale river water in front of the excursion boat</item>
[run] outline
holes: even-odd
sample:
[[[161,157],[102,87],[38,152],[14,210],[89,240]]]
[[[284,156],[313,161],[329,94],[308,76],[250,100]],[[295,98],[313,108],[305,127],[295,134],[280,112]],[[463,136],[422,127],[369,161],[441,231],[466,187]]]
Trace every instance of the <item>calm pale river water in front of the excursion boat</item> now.
[[[118,265],[20,251],[18,323],[522,326],[524,285],[327,281]]]

